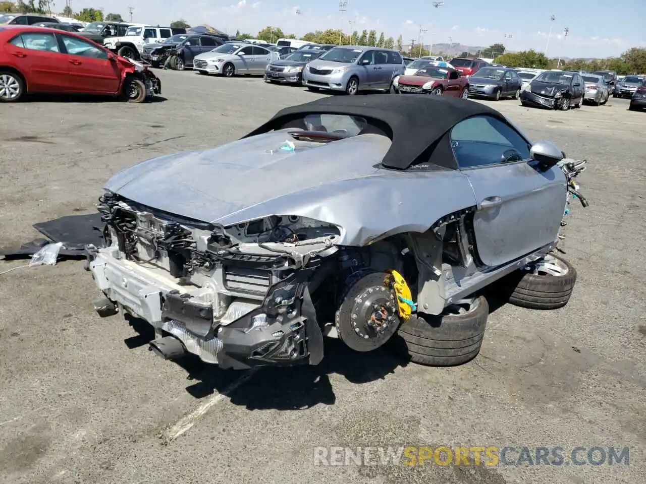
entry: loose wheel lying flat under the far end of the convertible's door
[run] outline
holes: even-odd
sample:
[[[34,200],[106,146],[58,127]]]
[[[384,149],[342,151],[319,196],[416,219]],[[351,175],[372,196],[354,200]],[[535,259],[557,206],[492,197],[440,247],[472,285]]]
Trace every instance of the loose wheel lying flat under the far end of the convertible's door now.
[[[576,269],[565,259],[550,254],[557,264],[567,268],[561,275],[546,276],[517,270],[500,281],[506,302],[529,309],[549,310],[567,305],[576,284]],[[501,292],[496,292],[497,297]]]

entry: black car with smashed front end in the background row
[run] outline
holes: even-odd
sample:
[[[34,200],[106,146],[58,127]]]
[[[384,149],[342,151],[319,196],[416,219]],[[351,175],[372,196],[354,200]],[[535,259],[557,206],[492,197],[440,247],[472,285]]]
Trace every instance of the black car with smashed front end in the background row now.
[[[570,107],[580,108],[584,97],[585,82],[581,74],[546,70],[531,81],[528,90],[521,92],[521,104],[567,111]]]

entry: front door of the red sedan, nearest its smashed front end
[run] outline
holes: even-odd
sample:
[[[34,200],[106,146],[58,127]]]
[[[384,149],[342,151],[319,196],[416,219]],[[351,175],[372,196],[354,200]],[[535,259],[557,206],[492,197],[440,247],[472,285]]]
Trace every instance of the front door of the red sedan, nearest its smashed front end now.
[[[118,63],[110,61],[107,50],[71,35],[57,36],[68,61],[70,90],[92,94],[118,92],[121,69]]]

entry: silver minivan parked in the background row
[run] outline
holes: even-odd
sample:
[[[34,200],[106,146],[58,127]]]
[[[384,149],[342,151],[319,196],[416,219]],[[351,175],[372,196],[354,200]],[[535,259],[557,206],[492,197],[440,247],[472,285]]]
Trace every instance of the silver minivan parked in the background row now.
[[[343,46],[328,50],[303,71],[309,90],[329,89],[354,95],[360,90],[394,91],[393,79],[404,74],[404,61],[396,50]]]

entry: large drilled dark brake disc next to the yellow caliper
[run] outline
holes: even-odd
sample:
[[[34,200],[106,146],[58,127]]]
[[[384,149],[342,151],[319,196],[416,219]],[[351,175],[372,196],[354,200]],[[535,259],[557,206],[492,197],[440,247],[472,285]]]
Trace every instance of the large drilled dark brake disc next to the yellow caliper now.
[[[349,348],[359,352],[376,350],[397,332],[400,321],[395,294],[386,283],[390,277],[386,272],[366,271],[349,279],[335,314],[339,339]],[[385,318],[381,331],[366,324],[377,313]]]

